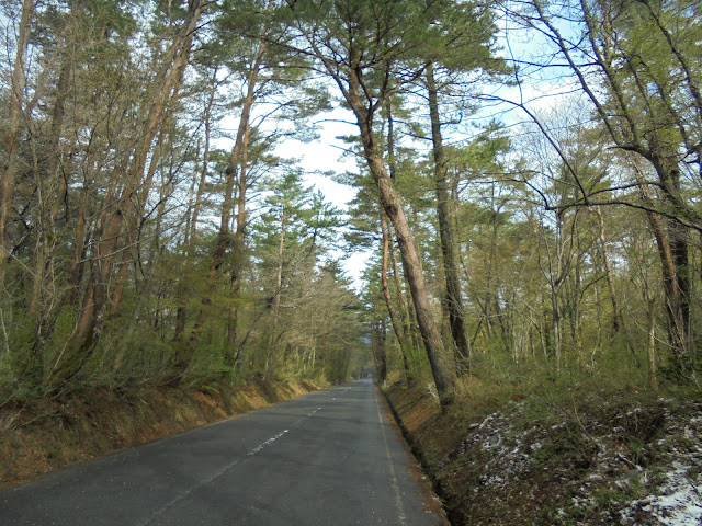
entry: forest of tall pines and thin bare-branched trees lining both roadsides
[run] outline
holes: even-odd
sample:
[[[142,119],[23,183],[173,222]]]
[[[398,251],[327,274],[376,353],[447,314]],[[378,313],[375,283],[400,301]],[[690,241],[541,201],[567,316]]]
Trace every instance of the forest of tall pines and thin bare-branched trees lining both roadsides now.
[[[699,387],[700,2],[1,9],[2,400],[370,366],[443,408]],[[335,110],[348,209],[276,153]]]

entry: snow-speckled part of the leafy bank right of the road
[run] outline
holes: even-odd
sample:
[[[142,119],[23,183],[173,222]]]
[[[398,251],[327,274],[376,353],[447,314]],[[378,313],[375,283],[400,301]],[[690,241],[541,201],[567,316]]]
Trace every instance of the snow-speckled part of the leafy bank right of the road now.
[[[553,503],[558,525],[702,526],[702,403],[659,399],[551,421],[522,410],[472,424],[439,462],[446,477],[477,471],[471,500],[521,495],[510,501],[518,524]]]

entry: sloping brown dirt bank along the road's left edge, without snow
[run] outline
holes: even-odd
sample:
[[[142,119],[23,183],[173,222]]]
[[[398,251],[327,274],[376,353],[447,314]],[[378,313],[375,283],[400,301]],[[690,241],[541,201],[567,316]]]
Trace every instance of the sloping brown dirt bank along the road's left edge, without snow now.
[[[0,408],[0,488],[327,387],[258,379],[244,386],[73,392]]]

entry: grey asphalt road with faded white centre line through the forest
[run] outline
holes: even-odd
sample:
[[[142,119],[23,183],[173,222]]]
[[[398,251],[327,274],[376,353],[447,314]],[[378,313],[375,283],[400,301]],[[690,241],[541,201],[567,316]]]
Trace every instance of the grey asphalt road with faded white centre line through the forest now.
[[[412,462],[361,380],[1,491],[0,525],[445,524]]]

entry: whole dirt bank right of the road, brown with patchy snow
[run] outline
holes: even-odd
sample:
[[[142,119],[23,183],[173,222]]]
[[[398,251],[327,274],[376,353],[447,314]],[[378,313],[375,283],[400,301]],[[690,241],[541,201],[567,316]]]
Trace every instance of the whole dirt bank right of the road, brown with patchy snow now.
[[[478,414],[468,397],[441,414],[426,386],[385,393],[454,525],[702,524],[702,403],[573,393]]]

